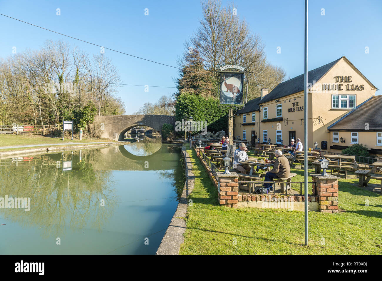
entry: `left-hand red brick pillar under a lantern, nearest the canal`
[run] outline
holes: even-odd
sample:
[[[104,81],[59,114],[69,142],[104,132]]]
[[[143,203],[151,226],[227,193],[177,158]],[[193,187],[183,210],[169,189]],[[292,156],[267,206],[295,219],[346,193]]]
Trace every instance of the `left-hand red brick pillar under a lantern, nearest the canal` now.
[[[226,205],[231,208],[238,207],[239,184],[238,175],[231,172],[229,175],[223,172],[217,172],[218,197],[220,205]]]

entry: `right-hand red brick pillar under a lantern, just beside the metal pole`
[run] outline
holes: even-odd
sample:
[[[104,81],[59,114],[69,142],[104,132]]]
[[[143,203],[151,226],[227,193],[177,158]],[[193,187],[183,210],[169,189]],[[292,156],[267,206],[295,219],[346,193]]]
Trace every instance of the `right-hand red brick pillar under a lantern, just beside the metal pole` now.
[[[334,175],[322,177],[311,175],[316,182],[316,195],[318,196],[318,208],[323,213],[338,213],[338,179]],[[313,191],[314,192],[314,191]]]

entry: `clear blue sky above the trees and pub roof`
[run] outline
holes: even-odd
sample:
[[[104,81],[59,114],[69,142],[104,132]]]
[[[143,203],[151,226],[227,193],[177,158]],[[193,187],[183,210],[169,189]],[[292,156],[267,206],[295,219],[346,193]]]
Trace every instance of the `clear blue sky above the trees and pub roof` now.
[[[222,2],[227,3],[226,1]],[[265,43],[270,63],[291,78],[304,72],[304,1],[236,1],[237,13]],[[56,15],[60,8],[61,15]],[[149,15],[144,15],[144,9]],[[321,9],[325,15],[321,15]],[[0,1],[0,13],[121,52],[176,66],[183,42],[199,26],[199,0],[187,1]],[[309,70],[345,55],[377,88],[382,88],[382,1],[309,2]],[[47,39],[64,39],[89,54],[99,47],[0,16],[0,57],[38,49]],[[281,54],[277,54],[281,47]],[[369,47],[369,54],[365,54]],[[122,83],[175,86],[175,68],[105,50],[120,71]],[[175,88],[122,86],[126,114],[144,102],[156,102]],[[377,91],[377,94],[380,94]]]

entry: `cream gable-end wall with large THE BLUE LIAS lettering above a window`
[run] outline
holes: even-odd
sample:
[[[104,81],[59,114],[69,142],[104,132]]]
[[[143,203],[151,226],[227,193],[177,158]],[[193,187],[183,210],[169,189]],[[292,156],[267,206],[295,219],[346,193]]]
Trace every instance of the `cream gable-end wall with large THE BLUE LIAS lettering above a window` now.
[[[335,82],[334,76],[351,76],[350,83]],[[342,91],[322,91],[322,84],[343,84]],[[363,91],[346,91],[346,84],[354,85],[364,85]],[[341,58],[333,67],[330,69],[317,84],[312,87],[313,103],[312,103],[312,117],[317,118],[322,117],[322,122],[313,121],[312,132],[313,132],[313,142],[317,141],[319,147],[321,146],[321,141],[326,140],[328,142],[328,150],[331,145],[331,135],[327,130],[332,123],[337,121],[344,114],[349,112],[351,109],[332,109],[332,94],[355,94],[356,95],[356,105],[358,106],[362,102],[366,101],[371,96],[374,96],[376,88],[373,88],[359,73],[356,71],[350,63],[346,61],[345,58]],[[345,138],[345,137],[344,137]],[[310,141],[310,140],[309,140]]]

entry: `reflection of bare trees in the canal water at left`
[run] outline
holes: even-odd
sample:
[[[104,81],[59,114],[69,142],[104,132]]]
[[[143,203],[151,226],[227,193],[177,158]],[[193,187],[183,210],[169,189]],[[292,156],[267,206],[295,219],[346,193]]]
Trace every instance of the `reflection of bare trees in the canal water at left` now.
[[[45,228],[46,237],[62,235],[67,227],[82,229],[88,223],[101,231],[117,202],[112,171],[92,168],[94,159],[102,157],[99,149],[83,150],[81,162],[79,153],[26,157],[17,167],[12,163],[15,159],[0,160],[0,197],[31,198],[30,211],[1,209],[3,218]],[[63,171],[62,160],[70,159],[73,169]]]

